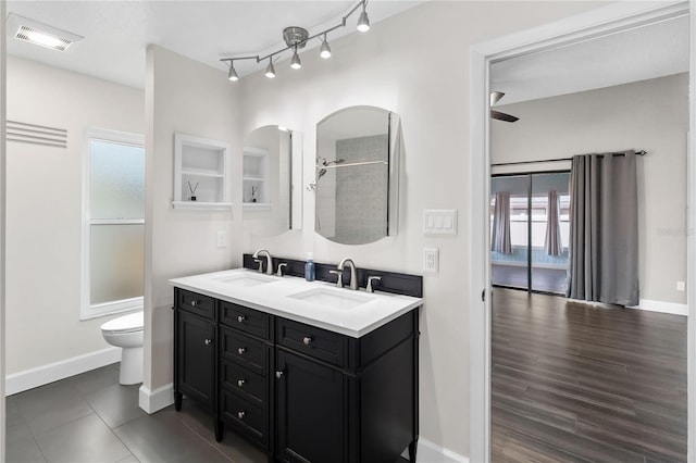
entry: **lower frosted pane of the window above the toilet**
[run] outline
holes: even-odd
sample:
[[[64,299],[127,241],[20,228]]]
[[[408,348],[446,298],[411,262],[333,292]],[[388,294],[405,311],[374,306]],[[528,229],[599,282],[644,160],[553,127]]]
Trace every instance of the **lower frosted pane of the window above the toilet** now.
[[[90,302],[138,298],[144,292],[145,225],[90,226]]]

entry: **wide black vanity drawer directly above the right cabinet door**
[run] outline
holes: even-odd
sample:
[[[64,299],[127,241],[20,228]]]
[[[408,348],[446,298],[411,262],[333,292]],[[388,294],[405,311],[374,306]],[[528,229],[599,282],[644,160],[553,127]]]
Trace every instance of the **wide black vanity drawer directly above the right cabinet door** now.
[[[276,318],[276,342],[336,366],[345,366],[348,340],[338,333]]]

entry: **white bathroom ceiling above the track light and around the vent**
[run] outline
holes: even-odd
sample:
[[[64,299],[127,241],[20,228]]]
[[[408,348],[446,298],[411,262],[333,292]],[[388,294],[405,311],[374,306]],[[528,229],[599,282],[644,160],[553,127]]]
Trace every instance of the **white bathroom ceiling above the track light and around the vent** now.
[[[422,1],[371,0],[368,3],[370,22],[375,24]],[[355,4],[355,0],[11,0],[7,2],[8,13],[77,34],[85,39],[64,53],[10,39],[8,53],[142,88],[145,49],[148,43],[159,45],[226,72],[227,65],[220,62],[221,58],[268,54],[285,47],[282,37],[285,27],[304,27],[312,35],[338,24]],[[328,35],[330,42],[332,37],[356,30],[358,13],[348,20],[347,27]],[[319,40],[312,40],[307,49],[319,45]],[[235,63],[235,68],[239,75],[244,75],[264,65],[256,65],[250,60]]]

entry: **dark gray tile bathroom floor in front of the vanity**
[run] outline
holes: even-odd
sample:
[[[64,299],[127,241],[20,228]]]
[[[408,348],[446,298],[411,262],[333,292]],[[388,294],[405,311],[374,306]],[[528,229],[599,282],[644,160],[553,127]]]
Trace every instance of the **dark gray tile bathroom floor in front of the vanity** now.
[[[139,386],[119,384],[119,364],[7,398],[7,462],[235,462],[265,455],[184,402],[148,415]]]

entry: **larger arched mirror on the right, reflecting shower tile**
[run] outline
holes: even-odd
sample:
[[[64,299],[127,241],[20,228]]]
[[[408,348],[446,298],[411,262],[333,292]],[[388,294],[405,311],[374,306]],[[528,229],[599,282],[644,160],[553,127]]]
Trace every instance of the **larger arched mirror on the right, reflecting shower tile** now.
[[[399,117],[374,107],[337,111],[316,125],[314,229],[344,245],[396,234]]]

